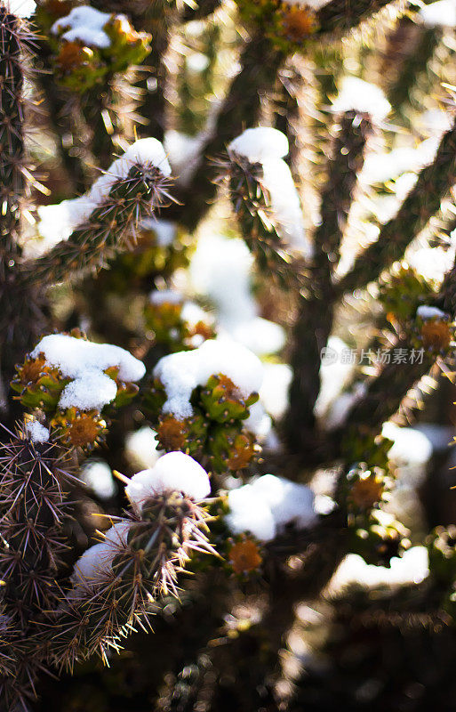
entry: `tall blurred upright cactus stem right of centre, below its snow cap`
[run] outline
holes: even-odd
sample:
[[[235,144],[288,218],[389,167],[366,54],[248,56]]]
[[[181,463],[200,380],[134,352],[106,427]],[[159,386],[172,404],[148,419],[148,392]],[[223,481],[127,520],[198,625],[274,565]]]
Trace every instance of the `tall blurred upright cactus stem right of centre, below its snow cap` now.
[[[322,191],[321,223],[316,230],[314,263],[308,268],[306,298],[300,299],[294,324],[288,440],[300,449],[306,431],[315,423],[314,407],[320,387],[320,354],[332,331],[336,294],[333,275],[356,190],[357,176],[372,134],[367,114],[347,111],[335,125]],[[311,436],[313,437],[313,435]]]

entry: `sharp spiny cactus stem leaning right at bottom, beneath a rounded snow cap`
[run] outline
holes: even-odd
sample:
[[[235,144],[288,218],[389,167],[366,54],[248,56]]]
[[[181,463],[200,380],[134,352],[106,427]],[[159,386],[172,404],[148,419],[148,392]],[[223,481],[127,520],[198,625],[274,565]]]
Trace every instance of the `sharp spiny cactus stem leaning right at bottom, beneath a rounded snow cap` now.
[[[154,604],[178,595],[178,574],[192,553],[212,553],[203,507],[169,490],[133,516],[126,544],[116,545],[106,578],[68,592],[49,630],[51,659],[71,669],[77,659],[118,651],[135,626],[148,627]]]

